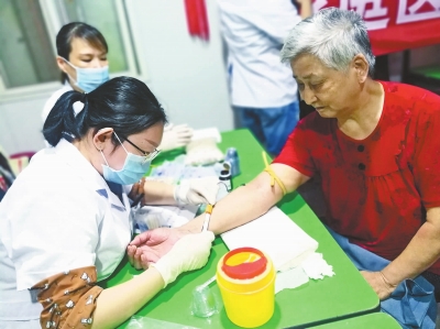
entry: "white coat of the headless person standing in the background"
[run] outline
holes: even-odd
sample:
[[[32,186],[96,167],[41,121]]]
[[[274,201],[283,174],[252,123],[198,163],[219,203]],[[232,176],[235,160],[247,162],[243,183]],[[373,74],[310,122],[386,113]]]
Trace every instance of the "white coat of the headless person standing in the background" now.
[[[275,108],[297,101],[297,85],[279,51],[300,20],[290,0],[218,0],[228,45],[231,102]]]

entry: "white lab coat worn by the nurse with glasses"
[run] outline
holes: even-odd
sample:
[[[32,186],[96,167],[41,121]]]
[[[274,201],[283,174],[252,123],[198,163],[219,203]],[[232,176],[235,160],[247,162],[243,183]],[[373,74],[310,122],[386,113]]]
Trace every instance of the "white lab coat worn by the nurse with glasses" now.
[[[0,204],[0,328],[40,328],[42,306],[28,289],[41,279],[90,265],[98,281],[114,271],[132,233],[129,188],[122,204],[64,139],[34,155]]]

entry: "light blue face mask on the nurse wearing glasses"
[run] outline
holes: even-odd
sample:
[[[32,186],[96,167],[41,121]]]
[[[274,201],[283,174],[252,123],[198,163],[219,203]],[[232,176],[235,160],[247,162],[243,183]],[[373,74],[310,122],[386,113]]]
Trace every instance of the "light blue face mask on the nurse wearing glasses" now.
[[[118,138],[118,135],[114,133],[117,136],[118,141],[121,143],[121,140]],[[120,171],[116,171],[111,167],[109,167],[109,163],[106,160],[106,156],[103,156],[103,153],[101,151],[101,155],[103,157],[103,161],[106,162],[107,165],[102,165],[103,169],[103,178],[109,182],[113,182],[117,184],[121,185],[130,185],[139,182],[145,173],[150,169],[150,164],[151,161],[146,161],[145,156],[141,155],[135,155],[132,153],[129,153],[125,147],[122,145],[122,149],[127,152],[127,158],[125,163]]]

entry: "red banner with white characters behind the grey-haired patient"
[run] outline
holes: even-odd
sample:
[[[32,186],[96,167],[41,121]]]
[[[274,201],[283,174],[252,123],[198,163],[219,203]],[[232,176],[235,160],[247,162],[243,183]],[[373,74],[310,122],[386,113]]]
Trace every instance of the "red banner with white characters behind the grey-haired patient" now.
[[[315,0],[363,17],[374,55],[440,43],[440,0]]]

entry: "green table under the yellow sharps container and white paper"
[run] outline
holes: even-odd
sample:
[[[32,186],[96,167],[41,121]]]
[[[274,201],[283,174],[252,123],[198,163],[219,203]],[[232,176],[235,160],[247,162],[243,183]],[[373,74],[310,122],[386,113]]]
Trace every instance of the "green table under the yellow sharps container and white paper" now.
[[[238,150],[242,173],[233,179],[235,187],[250,182],[264,168],[261,155],[263,149],[248,130],[222,133],[222,142],[219,146],[222,151],[231,146]],[[168,154],[167,158],[178,154],[178,152]],[[336,275],[322,281],[310,279],[300,287],[278,293],[275,298],[274,316],[261,328],[320,325],[377,311],[380,300],[376,294],[304,199],[298,194],[290,194],[278,206],[319,242],[318,252],[322,253],[324,260],[333,266]],[[138,315],[197,328],[239,328],[228,319],[224,309],[208,319],[197,318],[190,314],[191,290],[215,275],[218,261],[227,252],[228,249],[221,238],[217,238],[209,262],[204,268],[180,275],[175,283],[145,305]],[[135,274],[139,274],[139,271],[132,268],[124,260],[103,286],[118,285]],[[218,289],[216,284],[212,288]],[[121,326],[121,328],[125,327],[127,325]]]

